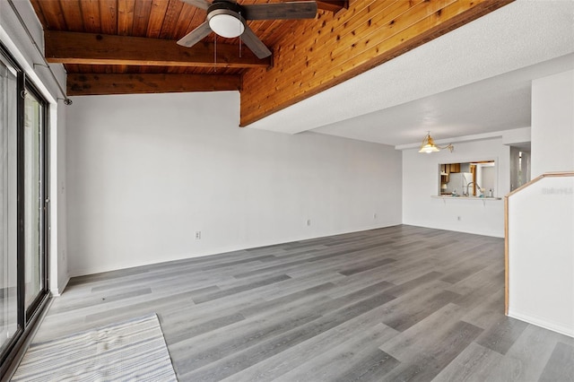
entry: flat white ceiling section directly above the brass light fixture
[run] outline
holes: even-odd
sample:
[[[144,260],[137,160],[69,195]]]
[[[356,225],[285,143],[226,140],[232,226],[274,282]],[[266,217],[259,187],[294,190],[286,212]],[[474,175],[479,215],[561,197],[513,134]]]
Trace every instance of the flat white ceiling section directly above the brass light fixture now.
[[[426,131],[439,139],[526,127],[532,79],[572,68],[574,54],[561,56],[311,131],[401,145],[422,140]]]

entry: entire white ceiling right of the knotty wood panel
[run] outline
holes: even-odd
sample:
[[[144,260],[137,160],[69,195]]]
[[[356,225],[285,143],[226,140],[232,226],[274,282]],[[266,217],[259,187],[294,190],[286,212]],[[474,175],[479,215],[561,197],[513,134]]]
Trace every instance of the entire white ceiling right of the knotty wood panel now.
[[[574,68],[574,1],[517,0],[248,127],[390,145],[530,126],[535,78]]]

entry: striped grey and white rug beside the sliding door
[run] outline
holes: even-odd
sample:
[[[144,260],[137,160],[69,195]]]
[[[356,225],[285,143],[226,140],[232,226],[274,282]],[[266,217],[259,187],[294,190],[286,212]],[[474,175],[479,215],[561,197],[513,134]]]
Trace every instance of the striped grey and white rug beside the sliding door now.
[[[177,381],[155,314],[34,343],[13,381]]]

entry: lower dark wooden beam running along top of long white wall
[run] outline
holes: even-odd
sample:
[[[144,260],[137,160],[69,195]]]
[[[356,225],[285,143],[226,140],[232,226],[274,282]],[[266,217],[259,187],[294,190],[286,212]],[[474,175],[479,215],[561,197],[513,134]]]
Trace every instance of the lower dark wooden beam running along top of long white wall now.
[[[67,95],[239,91],[241,77],[230,74],[68,74]]]

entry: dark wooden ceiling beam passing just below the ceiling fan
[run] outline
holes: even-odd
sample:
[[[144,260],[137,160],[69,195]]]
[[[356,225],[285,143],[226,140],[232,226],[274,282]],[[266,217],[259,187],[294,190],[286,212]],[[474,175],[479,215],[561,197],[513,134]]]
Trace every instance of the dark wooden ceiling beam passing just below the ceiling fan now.
[[[192,48],[170,39],[116,36],[45,30],[45,56],[48,62],[84,65],[148,65],[250,68],[269,67],[271,57],[259,59],[248,48],[198,43]]]

